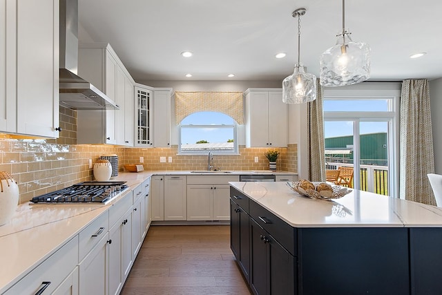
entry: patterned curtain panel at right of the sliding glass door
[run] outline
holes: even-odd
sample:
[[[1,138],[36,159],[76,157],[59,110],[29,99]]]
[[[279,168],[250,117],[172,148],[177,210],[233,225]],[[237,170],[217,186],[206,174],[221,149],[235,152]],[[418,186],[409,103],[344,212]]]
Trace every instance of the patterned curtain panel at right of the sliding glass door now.
[[[430,91],[426,79],[407,79],[401,90],[400,195],[436,206],[427,173],[434,173]]]

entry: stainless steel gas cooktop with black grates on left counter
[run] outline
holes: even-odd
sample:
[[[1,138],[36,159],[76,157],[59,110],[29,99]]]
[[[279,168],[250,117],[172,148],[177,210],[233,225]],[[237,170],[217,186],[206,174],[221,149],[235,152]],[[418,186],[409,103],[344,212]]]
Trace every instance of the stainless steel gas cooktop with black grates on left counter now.
[[[35,204],[106,204],[128,188],[126,182],[80,182],[71,187],[32,198]]]

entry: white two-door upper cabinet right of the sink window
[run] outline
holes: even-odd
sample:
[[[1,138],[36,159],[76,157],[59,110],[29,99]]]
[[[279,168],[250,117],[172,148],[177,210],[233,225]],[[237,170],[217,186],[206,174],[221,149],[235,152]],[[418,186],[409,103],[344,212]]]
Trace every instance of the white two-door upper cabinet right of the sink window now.
[[[245,94],[246,146],[286,147],[289,108],[282,89],[249,88]]]

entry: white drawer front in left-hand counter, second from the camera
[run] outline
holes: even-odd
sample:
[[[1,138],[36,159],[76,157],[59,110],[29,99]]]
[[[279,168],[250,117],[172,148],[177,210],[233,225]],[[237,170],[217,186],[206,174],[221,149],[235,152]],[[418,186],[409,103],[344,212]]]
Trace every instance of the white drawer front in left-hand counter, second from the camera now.
[[[83,229],[79,234],[79,261],[97,245],[97,242],[104,236],[109,228],[109,213],[102,213],[90,225]]]

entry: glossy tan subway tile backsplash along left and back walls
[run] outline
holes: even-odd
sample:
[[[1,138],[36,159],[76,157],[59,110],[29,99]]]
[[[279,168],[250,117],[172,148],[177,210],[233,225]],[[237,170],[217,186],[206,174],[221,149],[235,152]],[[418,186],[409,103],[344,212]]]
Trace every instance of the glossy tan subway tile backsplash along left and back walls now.
[[[93,169],[89,169],[88,159],[95,163],[104,153],[118,155],[119,171],[124,171],[124,164],[140,164],[140,156],[144,157],[146,171],[207,169],[206,155],[177,155],[177,146],[142,149],[76,144],[76,117],[75,111],[60,107],[63,131],[55,140],[0,136],[0,171],[10,173],[19,184],[20,203],[77,182],[93,180]],[[240,155],[214,155],[213,165],[221,170],[266,170],[269,169],[269,162],[265,158],[265,151],[267,149],[240,146]],[[296,172],[296,144],[289,144],[288,148],[278,151],[278,170]],[[166,157],[166,163],[160,163],[160,157]],[[171,163],[168,162],[169,157],[172,157]],[[258,157],[258,163],[255,157]]]

